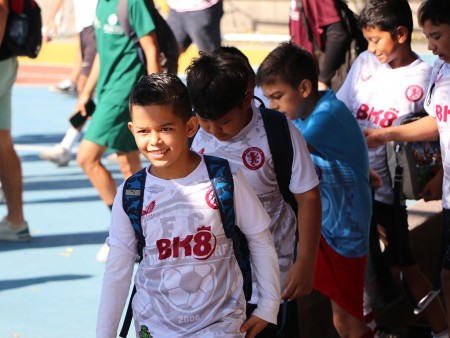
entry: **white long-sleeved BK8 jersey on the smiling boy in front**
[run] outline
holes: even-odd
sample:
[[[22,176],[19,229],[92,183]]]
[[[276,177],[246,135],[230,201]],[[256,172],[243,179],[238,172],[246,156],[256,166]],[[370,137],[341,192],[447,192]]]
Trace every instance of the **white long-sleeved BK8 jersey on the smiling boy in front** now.
[[[146,246],[133,299],[136,331],[145,325],[153,337],[242,337],[239,328],[246,306],[242,275],[204,162],[176,180],[148,172],[149,167],[141,218]],[[136,236],[122,207],[122,190],[123,184],[112,210],[97,337],[116,336],[136,255]],[[234,176],[234,197],[236,222],[249,241],[252,262],[257,262],[253,268],[265,289],[254,314],[276,323],[280,289],[270,219],[239,170]],[[264,232],[269,241],[254,252],[253,239]],[[262,270],[271,276],[261,278]]]

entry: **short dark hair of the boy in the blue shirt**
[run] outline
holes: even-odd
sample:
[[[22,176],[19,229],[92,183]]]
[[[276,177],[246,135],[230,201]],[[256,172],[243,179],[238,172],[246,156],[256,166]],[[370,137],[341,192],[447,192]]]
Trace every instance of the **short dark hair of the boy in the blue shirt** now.
[[[303,80],[317,89],[318,70],[314,57],[292,42],[283,42],[266,56],[256,72],[258,86],[282,81],[293,88]]]

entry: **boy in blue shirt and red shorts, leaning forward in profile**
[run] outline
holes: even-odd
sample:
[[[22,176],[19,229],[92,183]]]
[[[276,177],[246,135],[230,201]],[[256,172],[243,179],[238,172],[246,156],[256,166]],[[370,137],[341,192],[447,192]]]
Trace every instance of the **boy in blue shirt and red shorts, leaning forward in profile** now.
[[[331,90],[318,90],[317,76],[313,56],[286,42],[261,63],[256,84],[270,107],[302,132],[320,173],[324,208],[314,288],[331,300],[341,337],[370,338],[363,315],[372,216],[367,145],[347,106]]]

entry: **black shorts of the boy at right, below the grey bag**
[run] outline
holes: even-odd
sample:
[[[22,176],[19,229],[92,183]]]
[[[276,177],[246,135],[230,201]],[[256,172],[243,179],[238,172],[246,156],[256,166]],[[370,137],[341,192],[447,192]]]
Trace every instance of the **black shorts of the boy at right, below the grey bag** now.
[[[395,221],[395,208],[392,204],[374,201],[374,215],[376,222],[386,229],[389,245],[384,255],[391,266],[411,266],[416,262],[409,245],[408,214],[406,207],[401,206],[399,221]]]

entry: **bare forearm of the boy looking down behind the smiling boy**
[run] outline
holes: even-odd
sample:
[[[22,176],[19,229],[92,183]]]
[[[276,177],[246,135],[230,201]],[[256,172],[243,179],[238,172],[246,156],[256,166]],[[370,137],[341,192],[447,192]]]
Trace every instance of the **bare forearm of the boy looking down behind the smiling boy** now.
[[[312,291],[322,228],[319,187],[295,194],[295,199],[298,204],[298,254],[287,274],[283,299],[297,299]]]

